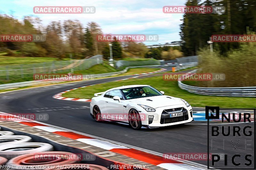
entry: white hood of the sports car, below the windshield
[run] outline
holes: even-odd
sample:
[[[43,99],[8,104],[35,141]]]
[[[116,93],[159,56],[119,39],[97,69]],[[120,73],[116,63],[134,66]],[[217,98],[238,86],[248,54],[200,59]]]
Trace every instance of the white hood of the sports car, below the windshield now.
[[[180,100],[180,98],[167,95],[130,99],[129,101],[137,104],[146,105],[152,108],[185,104],[182,100]]]

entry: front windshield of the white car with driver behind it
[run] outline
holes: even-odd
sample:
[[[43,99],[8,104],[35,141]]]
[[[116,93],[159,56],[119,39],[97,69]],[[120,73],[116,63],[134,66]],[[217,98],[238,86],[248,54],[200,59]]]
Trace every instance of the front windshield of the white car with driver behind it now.
[[[132,87],[121,89],[126,99],[137,99],[150,96],[163,95],[161,92],[151,86]]]

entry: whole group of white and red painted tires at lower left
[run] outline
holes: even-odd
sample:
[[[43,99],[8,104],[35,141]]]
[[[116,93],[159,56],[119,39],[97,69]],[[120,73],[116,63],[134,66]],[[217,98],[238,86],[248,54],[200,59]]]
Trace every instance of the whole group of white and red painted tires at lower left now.
[[[0,165],[2,166],[6,165],[16,170],[108,170],[104,166],[79,164],[78,158],[75,153],[54,151],[51,144],[33,142],[31,137],[15,135],[11,131],[1,131],[0,127]]]

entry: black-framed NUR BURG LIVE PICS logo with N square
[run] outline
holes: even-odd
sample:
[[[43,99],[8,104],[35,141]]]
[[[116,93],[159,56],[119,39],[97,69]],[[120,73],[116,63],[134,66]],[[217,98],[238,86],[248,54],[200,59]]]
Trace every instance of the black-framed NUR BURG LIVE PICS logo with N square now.
[[[220,114],[219,107],[205,107],[208,169],[255,169],[256,109],[221,110],[224,113]],[[221,122],[209,123],[210,119],[220,118]],[[212,159],[209,159],[210,155]]]

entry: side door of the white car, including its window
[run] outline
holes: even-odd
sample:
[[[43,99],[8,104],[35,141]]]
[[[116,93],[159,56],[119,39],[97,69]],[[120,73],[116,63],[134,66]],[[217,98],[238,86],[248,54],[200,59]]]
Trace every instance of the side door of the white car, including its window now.
[[[119,96],[121,100],[114,100],[114,96]],[[124,102],[122,93],[119,89],[109,91],[108,96],[106,96],[105,100],[105,108],[107,111],[107,115],[108,117],[111,117],[111,120],[124,120]]]

